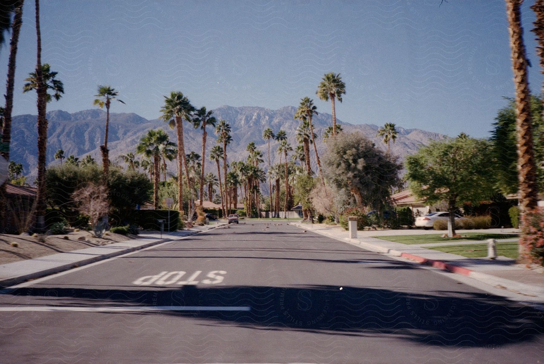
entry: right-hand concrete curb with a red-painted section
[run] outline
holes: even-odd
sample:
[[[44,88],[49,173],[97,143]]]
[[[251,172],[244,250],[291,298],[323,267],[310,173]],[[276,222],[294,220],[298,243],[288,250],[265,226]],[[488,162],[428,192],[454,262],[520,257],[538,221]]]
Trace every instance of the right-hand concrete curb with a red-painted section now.
[[[419,264],[432,266],[432,267],[435,267],[435,268],[438,268],[438,269],[441,269],[441,270],[445,270],[445,271],[449,271],[449,272],[452,272],[452,273],[456,273],[456,274],[462,274],[463,276],[478,280],[479,282],[492,285],[495,288],[506,289],[506,290],[509,290],[511,292],[519,293],[519,294],[525,295],[525,296],[534,296],[534,297],[542,296],[542,297],[544,297],[544,289],[539,288],[539,287],[535,287],[535,286],[531,286],[529,284],[517,282],[515,280],[510,280],[510,279],[506,279],[506,278],[496,277],[496,276],[493,276],[492,274],[477,272],[477,271],[474,271],[474,270],[471,270],[471,269],[467,269],[465,267],[457,266],[455,264],[446,263],[445,261],[442,261],[442,260],[428,259],[428,258],[416,256],[414,254],[384,248],[384,247],[379,246],[379,245],[370,244],[369,242],[358,241],[356,239],[350,239],[350,238],[336,238],[336,237],[333,237],[332,235],[329,235],[329,234],[326,234],[326,233],[323,233],[323,232],[314,231],[312,229],[307,228],[306,226],[301,226],[298,223],[291,222],[291,224],[296,226],[296,227],[302,228],[302,229],[308,229],[308,230],[310,230],[310,231],[312,231],[314,233],[323,235],[323,236],[328,237],[328,238],[332,238],[332,239],[339,240],[339,241],[349,242],[351,244],[356,244],[358,246],[363,246],[363,247],[369,248],[369,250],[372,250],[372,251],[375,251],[375,252],[384,253],[384,254],[388,254],[388,255],[391,255],[391,256],[395,256],[395,257],[401,257],[401,258],[409,259],[409,260],[415,261],[416,263],[419,263]]]

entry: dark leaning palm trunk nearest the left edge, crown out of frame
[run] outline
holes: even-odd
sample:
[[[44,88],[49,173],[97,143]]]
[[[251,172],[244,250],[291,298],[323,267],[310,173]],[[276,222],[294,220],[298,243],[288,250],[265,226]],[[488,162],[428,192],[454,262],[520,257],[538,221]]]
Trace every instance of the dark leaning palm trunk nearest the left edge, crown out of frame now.
[[[5,93],[5,112],[4,125],[2,129],[2,143],[0,144],[0,156],[9,161],[9,145],[11,143],[11,111],[13,110],[13,88],[15,84],[15,61],[17,56],[17,44],[19,42],[19,33],[22,25],[23,1],[19,0],[15,4],[15,15],[11,23],[11,41],[8,61],[8,79],[6,82]],[[62,162],[62,161],[61,161]],[[6,206],[6,186],[2,183],[0,186],[0,232],[4,230],[4,223],[7,220],[5,216]]]

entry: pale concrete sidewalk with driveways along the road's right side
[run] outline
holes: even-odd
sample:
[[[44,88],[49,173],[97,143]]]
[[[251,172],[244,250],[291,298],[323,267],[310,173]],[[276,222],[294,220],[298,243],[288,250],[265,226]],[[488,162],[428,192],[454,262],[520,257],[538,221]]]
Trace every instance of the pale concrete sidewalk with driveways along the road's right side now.
[[[465,258],[456,254],[444,253],[425,248],[424,245],[407,245],[400,242],[371,238],[370,236],[385,235],[417,235],[436,234],[436,231],[425,230],[382,230],[382,231],[357,231],[357,239],[350,239],[348,231],[339,226],[329,226],[323,223],[289,222],[306,230],[310,230],[327,237],[357,244],[365,249],[380,253],[390,254],[395,257],[402,257],[416,261],[417,263],[434,266],[442,270],[462,274],[480,282],[490,284],[496,288],[506,289],[526,297],[535,297],[544,302],[544,272],[538,269],[528,269],[522,264],[516,264],[514,259],[497,257],[487,258]],[[474,232],[474,230],[459,231]],[[515,229],[486,229],[486,233],[512,233],[518,232]],[[504,239],[500,241],[512,241]],[[448,244],[474,244],[475,241],[463,241],[455,243],[434,243],[432,246]],[[486,241],[477,241],[485,243]]]

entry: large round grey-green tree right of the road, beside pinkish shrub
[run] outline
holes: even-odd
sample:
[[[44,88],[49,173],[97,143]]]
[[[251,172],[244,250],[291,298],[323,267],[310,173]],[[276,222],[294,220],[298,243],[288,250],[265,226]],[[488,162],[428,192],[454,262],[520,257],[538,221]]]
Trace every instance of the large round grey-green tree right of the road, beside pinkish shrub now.
[[[397,159],[376,148],[360,132],[330,137],[324,156],[325,179],[354,196],[357,208],[381,210],[391,188],[399,183],[402,166]]]

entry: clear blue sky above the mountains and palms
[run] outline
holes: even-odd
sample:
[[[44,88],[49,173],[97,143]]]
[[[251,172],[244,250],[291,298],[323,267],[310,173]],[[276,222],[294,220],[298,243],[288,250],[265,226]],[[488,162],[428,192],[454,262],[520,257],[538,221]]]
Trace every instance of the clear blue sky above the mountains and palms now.
[[[93,108],[97,85],[119,91],[113,112],[159,116],[163,95],[196,107],[298,105],[323,74],[341,73],[337,117],[393,122],[450,136],[489,136],[503,97],[514,95],[504,1],[69,1],[41,2],[42,61],[64,82],[48,110]],[[523,4],[531,88],[542,75]],[[9,48],[0,50],[7,73]],[[22,94],[35,67],[34,2],[19,42],[14,114],[36,114]]]

